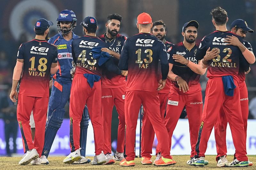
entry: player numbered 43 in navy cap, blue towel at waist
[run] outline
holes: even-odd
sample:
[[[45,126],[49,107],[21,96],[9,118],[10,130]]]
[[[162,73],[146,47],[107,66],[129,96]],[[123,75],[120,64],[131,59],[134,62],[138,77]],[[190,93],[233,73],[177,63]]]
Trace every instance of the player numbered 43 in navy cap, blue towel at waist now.
[[[107,69],[116,74],[125,74],[113,63],[112,58],[101,48],[108,44],[96,36],[98,29],[94,17],[86,17],[80,23],[84,27],[84,36],[72,41],[72,57],[76,64],[75,76],[70,92],[70,149],[71,153],[63,163],[71,164],[80,156],[80,122],[85,104],[89,110],[94,132],[95,156],[92,165],[106,163],[104,149],[104,130],[101,116],[101,77],[102,70]]]

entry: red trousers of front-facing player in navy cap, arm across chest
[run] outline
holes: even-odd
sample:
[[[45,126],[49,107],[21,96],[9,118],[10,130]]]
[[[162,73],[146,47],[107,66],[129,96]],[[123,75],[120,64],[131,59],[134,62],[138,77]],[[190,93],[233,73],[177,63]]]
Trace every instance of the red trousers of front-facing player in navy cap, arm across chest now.
[[[169,150],[172,146],[172,134],[179,121],[180,114],[186,106],[188,122],[189,122],[189,134],[191,144],[191,155],[195,155],[196,141],[198,137],[198,130],[201,123],[201,115],[203,111],[203,101],[201,91],[195,93],[193,96],[180,96],[170,93],[168,96],[168,102],[166,107],[166,115],[164,117],[164,125],[167,128],[169,134]],[[160,145],[156,147],[156,153],[160,152]]]

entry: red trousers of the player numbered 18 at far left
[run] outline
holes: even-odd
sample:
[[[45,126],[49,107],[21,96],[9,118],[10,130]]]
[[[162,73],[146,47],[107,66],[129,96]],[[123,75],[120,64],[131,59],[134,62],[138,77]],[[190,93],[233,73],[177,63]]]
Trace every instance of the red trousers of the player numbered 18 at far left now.
[[[33,97],[18,94],[18,98],[17,120],[20,125],[24,153],[35,148],[39,157],[41,157],[44,147],[44,131],[49,97]],[[32,110],[36,128],[34,141],[32,141],[29,125]]]

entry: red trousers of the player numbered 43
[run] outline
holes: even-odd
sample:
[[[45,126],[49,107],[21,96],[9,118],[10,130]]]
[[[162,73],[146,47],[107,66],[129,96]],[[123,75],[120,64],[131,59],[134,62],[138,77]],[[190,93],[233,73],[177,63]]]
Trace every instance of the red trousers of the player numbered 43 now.
[[[104,145],[104,131],[100,110],[101,80],[94,82],[91,88],[83,74],[75,74],[71,85],[69,103],[71,152],[80,148],[80,122],[85,104],[87,104],[92,122],[95,154],[99,155],[103,151]]]

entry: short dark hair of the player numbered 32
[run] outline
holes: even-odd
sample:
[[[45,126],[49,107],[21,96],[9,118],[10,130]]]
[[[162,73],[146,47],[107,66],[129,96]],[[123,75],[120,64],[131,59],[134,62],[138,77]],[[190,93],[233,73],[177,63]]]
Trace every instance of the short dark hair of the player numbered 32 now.
[[[224,25],[227,22],[228,13],[226,10],[222,9],[221,7],[217,7],[212,9],[210,12],[212,18],[214,19],[217,25]]]

